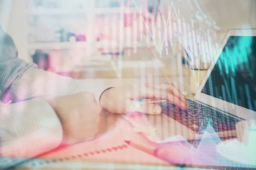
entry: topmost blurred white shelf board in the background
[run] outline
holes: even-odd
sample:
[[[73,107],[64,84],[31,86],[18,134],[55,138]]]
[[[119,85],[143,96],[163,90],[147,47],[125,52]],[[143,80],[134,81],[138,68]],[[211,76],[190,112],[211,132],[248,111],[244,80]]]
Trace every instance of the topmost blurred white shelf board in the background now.
[[[123,11],[122,11],[123,10]],[[115,8],[97,8],[96,9],[96,14],[101,15],[101,14],[130,14],[130,13],[139,13],[137,8],[120,8],[120,7],[115,7]],[[77,9],[77,10],[65,10],[65,9],[56,9],[56,8],[34,8],[29,11],[27,11],[28,15],[81,15],[84,14],[86,15],[87,12],[85,9]]]

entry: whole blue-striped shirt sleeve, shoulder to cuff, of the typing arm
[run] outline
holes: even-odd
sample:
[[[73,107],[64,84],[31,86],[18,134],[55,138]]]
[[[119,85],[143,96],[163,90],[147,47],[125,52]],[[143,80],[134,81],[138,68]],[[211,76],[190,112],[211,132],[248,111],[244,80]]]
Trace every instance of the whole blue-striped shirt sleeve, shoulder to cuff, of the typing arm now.
[[[110,88],[40,70],[37,65],[18,59],[17,56],[12,38],[0,27],[0,98],[7,89],[20,100],[47,99],[88,91],[95,95],[96,102],[99,103],[102,92]]]

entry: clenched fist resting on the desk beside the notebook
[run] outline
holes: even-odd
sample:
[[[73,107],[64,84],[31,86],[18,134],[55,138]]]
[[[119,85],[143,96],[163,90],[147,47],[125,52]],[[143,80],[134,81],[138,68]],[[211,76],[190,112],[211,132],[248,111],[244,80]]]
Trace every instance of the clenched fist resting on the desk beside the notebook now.
[[[102,108],[89,92],[59,96],[50,99],[63,128],[63,144],[90,140],[97,136]]]

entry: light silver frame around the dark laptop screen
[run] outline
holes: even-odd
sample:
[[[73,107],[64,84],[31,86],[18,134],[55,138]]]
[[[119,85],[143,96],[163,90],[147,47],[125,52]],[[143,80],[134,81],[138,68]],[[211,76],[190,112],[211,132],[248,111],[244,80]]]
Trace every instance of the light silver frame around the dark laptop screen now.
[[[210,66],[209,66],[209,69],[208,69],[206,75],[204,76],[204,78],[194,96],[194,99],[196,99],[198,101],[202,101],[202,99],[203,99],[203,102],[205,104],[211,105],[215,108],[221,109],[221,110],[231,113],[235,116],[239,116],[243,119],[247,119],[247,120],[256,119],[255,111],[251,111],[247,108],[243,108],[243,107],[235,105],[233,103],[226,102],[224,100],[215,98],[213,96],[209,96],[207,94],[201,93],[205,83],[207,82],[209,75],[212,72],[212,69],[215,66],[215,63],[217,62],[218,58],[220,57],[220,54],[223,51],[223,49],[227,43],[227,40],[229,39],[230,36],[256,36],[256,29],[231,29],[227,32],[227,34],[224,37],[224,40],[221,42],[221,45],[218,48],[218,50],[215,54],[215,57],[213,58]]]

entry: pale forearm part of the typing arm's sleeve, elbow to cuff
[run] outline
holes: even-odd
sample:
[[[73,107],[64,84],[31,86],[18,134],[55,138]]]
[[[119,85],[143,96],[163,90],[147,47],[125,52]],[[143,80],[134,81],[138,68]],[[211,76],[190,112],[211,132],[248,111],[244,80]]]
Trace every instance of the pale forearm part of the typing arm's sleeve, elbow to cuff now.
[[[70,77],[63,77],[37,68],[27,69],[20,79],[12,83],[10,92],[19,99],[48,99],[55,96],[77,94],[88,91],[95,95],[99,103],[100,95],[109,86],[77,82]]]

